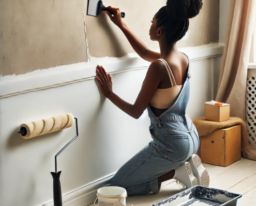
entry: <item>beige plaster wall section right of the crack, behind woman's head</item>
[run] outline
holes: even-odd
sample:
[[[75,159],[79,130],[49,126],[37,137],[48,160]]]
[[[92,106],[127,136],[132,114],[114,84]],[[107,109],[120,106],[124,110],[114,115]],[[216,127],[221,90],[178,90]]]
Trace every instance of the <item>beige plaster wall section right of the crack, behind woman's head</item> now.
[[[105,6],[118,7],[126,13],[124,22],[150,49],[159,48],[158,42],[149,38],[149,28],[156,12],[166,5],[166,0],[104,0]],[[203,0],[203,7],[190,25],[182,40],[177,42],[179,48],[200,46],[219,41],[219,0]],[[114,25],[106,13],[97,18],[86,16],[89,54],[93,57],[122,57],[134,52],[123,32]]]

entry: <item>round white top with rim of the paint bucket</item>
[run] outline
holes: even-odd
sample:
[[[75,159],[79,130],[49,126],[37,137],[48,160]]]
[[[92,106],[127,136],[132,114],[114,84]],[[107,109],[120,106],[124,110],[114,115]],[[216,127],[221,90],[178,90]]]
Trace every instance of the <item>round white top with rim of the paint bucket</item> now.
[[[104,198],[118,198],[118,197],[126,198],[127,192],[123,187],[107,186],[107,187],[99,188],[97,190],[97,196],[104,197]]]

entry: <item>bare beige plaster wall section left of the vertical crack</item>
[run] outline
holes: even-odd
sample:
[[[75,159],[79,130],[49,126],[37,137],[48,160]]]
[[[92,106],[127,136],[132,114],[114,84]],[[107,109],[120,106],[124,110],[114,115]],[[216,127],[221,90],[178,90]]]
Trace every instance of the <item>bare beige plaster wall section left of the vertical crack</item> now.
[[[87,61],[85,1],[0,1],[2,75]]]

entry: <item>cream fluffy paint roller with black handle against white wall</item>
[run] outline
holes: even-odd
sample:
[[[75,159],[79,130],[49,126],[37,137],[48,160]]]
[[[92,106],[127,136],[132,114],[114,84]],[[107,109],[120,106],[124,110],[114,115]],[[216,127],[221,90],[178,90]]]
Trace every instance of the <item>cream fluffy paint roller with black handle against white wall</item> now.
[[[57,156],[67,148],[75,139],[78,138],[78,119],[73,117],[71,113],[61,114],[58,116],[39,119],[34,122],[28,122],[20,125],[20,135],[23,139],[34,138],[35,136],[43,135],[50,132],[55,132],[72,127],[76,119],[77,135],[63,147],[57,155],[55,155],[55,172],[51,172],[53,177],[53,202],[54,206],[62,206],[62,190],[61,181],[59,180],[62,171],[57,172]]]

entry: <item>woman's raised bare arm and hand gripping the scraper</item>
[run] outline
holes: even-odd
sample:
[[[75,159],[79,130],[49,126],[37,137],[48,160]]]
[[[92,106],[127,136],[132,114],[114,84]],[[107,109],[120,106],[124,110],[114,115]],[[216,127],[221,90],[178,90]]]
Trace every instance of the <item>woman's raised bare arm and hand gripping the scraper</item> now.
[[[108,8],[114,13],[112,16],[108,11],[105,11],[109,15],[110,20],[124,32],[124,35],[130,42],[132,48],[142,59],[153,62],[160,58],[160,53],[153,52],[148,49],[147,46],[136,35],[134,35],[134,33],[123,22],[120,9],[111,6]]]

